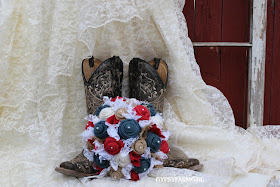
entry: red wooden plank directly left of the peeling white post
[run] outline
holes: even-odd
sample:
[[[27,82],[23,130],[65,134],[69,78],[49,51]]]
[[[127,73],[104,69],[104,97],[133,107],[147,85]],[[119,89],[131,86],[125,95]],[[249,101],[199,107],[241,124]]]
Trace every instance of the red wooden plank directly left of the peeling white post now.
[[[249,41],[249,1],[223,1],[222,41]],[[248,48],[221,49],[221,90],[233,109],[236,125],[246,128]]]

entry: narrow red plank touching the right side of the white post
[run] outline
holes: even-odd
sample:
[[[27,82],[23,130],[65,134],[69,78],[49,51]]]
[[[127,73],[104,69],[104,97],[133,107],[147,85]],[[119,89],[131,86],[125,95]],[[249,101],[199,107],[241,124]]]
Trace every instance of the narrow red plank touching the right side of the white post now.
[[[265,92],[264,92],[264,125],[270,124],[271,109],[271,74],[273,63],[274,10],[275,1],[267,2],[266,60],[265,60]]]

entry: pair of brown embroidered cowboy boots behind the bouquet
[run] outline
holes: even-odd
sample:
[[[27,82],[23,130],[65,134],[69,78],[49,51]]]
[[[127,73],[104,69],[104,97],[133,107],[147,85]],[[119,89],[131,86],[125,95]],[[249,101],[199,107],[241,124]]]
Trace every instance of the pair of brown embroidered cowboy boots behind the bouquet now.
[[[122,95],[123,62],[119,57],[113,56],[103,62],[94,57],[84,59],[82,75],[88,114],[95,114],[97,107],[103,104],[103,96],[114,98]],[[150,62],[133,58],[129,63],[129,97],[149,102],[160,113],[167,80],[167,64],[159,58]],[[197,159],[187,158],[178,149],[171,149],[167,155],[164,167],[201,168]],[[97,172],[83,152],[70,161],[62,162],[55,170],[76,177],[92,176]]]

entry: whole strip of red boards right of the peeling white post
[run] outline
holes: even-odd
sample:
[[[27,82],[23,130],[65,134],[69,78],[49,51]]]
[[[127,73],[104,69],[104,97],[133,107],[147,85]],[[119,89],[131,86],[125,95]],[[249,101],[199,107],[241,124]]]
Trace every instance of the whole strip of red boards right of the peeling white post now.
[[[280,125],[280,0],[268,0],[264,124]]]

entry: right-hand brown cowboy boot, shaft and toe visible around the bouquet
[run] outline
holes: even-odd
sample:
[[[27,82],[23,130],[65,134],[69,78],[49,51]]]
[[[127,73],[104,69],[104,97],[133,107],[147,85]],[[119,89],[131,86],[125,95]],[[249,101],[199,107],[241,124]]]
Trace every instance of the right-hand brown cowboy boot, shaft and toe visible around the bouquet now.
[[[134,58],[130,61],[130,97],[149,102],[160,113],[163,111],[163,94],[166,91],[167,81],[168,67],[162,59],[155,58],[150,62],[146,62],[142,59]],[[197,159],[188,158],[179,148],[173,147],[167,155],[168,159],[164,161],[164,167],[193,170],[198,170],[202,167]]]

